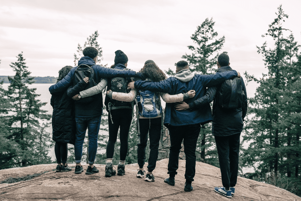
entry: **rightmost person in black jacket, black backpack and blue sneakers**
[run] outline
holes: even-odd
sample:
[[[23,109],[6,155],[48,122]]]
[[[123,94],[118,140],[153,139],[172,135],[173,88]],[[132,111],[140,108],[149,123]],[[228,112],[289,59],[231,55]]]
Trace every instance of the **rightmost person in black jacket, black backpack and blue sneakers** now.
[[[232,71],[229,56],[219,55],[216,72]],[[235,192],[238,173],[238,155],[240,133],[244,127],[247,114],[247,91],[242,77],[225,80],[223,83],[208,87],[205,96],[189,104],[176,104],[176,110],[198,110],[213,100],[212,134],[219,155],[219,166],[223,187],[214,190],[231,198]]]

